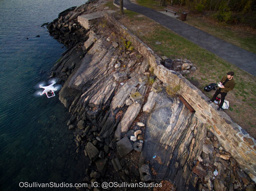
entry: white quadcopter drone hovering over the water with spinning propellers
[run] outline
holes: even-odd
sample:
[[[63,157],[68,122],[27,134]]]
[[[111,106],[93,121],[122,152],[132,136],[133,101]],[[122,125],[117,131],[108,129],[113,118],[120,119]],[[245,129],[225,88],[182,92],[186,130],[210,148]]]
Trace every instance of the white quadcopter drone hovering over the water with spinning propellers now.
[[[39,88],[44,88],[44,90],[42,90],[42,89],[37,90],[34,93],[34,95],[35,96],[41,96],[45,93],[48,98],[55,96],[54,91],[58,91],[58,90],[61,89],[61,84],[56,84],[57,82],[58,82],[58,78],[52,78],[48,81],[48,84],[50,84],[48,86],[45,85],[46,82],[44,82],[44,81],[38,83],[35,87],[36,88],[38,88],[38,87]]]

